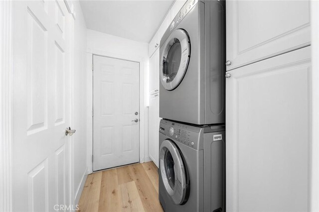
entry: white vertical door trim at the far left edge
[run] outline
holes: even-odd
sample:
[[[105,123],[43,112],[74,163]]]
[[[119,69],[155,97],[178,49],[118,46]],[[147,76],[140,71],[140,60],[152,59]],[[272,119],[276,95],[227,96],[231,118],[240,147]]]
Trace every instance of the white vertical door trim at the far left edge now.
[[[0,211],[12,211],[12,1],[0,1]]]

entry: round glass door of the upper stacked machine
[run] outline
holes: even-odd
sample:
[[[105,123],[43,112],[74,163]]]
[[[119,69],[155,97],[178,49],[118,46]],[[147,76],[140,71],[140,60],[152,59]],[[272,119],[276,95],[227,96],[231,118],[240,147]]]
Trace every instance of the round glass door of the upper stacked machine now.
[[[171,91],[182,81],[189,62],[190,44],[183,29],[173,31],[165,41],[160,55],[160,82]]]

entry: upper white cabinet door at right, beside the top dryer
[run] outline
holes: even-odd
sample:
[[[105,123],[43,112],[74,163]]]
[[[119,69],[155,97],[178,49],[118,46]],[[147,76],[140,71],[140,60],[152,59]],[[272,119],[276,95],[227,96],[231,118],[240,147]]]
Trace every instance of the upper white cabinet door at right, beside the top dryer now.
[[[228,0],[226,8],[227,71],[310,45],[307,0]]]

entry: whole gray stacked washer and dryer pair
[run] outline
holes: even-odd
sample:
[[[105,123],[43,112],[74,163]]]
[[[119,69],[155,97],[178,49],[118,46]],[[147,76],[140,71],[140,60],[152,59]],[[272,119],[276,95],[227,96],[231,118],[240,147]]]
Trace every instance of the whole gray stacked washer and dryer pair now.
[[[225,1],[187,0],[160,41],[159,199],[225,212]]]

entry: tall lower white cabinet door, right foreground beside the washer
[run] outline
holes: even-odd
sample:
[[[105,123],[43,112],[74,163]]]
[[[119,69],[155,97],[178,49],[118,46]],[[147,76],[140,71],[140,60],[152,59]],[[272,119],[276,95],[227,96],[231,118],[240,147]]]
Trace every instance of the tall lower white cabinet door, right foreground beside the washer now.
[[[311,48],[228,73],[227,211],[308,211]]]

